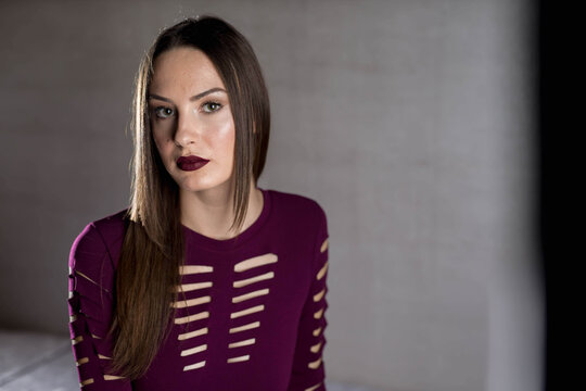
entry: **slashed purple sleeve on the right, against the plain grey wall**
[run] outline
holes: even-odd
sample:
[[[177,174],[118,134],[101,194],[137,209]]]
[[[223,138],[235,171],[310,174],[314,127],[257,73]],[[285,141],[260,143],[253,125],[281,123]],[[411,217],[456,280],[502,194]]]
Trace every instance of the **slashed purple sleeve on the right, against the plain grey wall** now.
[[[326,214],[320,209],[311,282],[300,319],[289,391],[326,391],[322,353],[326,345],[323,331],[328,325],[324,315],[328,308],[328,238]]]

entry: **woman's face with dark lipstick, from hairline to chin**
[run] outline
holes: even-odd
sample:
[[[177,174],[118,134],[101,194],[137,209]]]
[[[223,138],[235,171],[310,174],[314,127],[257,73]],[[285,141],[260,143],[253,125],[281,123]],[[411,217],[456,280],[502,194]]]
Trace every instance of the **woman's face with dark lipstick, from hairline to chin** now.
[[[161,159],[180,191],[230,188],[234,122],[226,87],[202,51],[180,47],[155,60],[149,117]],[[191,171],[178,164],[190,155],[208,162]]]

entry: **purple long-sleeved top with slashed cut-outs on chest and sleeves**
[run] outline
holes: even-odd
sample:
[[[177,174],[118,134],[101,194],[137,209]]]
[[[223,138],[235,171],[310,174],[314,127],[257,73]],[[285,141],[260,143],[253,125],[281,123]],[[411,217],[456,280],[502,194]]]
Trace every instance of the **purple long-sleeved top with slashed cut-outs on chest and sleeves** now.
[[[186,262],[170,335],[146,374],[107,371],[126,210],[92,222],[69,253],[69,331],[81,390],[324,391],[328,224],[314,200],[263,191],[239,238],[182,227]]]

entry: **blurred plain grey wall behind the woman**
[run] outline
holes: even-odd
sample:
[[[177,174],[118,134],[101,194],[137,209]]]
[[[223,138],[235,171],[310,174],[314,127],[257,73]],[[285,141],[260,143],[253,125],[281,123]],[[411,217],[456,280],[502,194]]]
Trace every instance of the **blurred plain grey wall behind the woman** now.
[[[0,2],[0,326],[67,332],[72,241],[127,205],[139,60],[163,26],[215,13],[268,81],[259,185],[328,214],[328,377],[537,390],[527,4]]]

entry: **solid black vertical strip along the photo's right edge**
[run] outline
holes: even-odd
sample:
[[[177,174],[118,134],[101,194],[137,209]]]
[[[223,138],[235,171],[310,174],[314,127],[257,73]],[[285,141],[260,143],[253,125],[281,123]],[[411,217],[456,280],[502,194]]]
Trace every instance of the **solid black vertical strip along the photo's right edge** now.
[[[545,306],[546,390],[583,388],[585,229],[581,192],[586,175],[583,134],[584,12],[578,3],[539,0],[538,222]],[[581,342],[582,341],[582,342]]]

